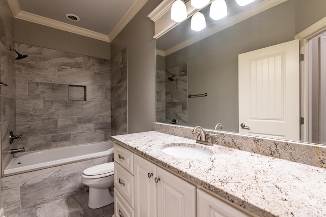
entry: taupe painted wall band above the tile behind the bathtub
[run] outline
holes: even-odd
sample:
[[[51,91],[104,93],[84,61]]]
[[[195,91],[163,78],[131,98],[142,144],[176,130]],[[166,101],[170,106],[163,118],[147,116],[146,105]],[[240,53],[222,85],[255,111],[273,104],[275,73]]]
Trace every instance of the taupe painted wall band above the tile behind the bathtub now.
[[[45,25],[15,19],[15,42],[103,59],[111,59],[110,43]]]

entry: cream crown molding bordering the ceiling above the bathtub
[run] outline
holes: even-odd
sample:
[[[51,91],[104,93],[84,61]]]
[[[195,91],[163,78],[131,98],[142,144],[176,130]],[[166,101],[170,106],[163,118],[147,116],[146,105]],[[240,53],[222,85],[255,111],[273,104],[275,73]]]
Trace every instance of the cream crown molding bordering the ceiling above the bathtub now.
[[[121,30],[128,24],[128,22],[142,9],[142,7],[148,2],[148,0],[135,0],[129,9],[124,13],[119,22],[115,25],[110,34],[105,35],[101,33],[94,32],[89,29],[74,26],[57,20],[49,19],[39,15],[35,15],[29,12],[22,11],[18,0],[7,0],[9,7],[15,18],[26,20],[29,22],[34,22],[37,24],[49,26],[52,28],[57,28],[64,30],[66,32],[74,33],[77,35],[86,36],[89,38],[112,42],[112,40],[121,32]]]

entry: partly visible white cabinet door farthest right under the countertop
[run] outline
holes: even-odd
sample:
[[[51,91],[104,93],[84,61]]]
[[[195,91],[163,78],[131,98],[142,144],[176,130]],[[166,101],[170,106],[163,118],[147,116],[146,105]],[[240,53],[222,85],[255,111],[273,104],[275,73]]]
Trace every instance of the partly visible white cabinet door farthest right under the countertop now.
[[[249,217],[236,207],[204,192],[197,191],[198,216],[200,217]]]

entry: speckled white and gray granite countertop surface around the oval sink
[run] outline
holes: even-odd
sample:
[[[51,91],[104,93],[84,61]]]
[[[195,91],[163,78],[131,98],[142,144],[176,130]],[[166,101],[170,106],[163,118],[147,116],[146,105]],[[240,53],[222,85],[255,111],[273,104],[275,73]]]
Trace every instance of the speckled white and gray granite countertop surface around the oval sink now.
[[[326,216],[326,169],[155,131],[112,139],[258,216]],[[169,143],[196,144],[214,154],[172,157],[161,151]]]

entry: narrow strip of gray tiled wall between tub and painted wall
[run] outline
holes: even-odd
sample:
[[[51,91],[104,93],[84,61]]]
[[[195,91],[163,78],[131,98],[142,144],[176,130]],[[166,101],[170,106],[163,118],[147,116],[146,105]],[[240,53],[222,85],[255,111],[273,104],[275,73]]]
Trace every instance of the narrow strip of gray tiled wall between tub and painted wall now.
[[[112,135],[128,133],[127,48],[111,60]]]

